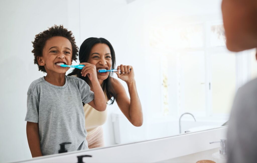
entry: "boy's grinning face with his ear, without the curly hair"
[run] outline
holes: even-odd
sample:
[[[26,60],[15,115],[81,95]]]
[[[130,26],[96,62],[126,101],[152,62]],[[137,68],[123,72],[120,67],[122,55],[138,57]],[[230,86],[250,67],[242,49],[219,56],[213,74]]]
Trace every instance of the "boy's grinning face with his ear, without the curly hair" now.
[[[51,37],[45,43],[43,56],[38,57],[38,63],[44,66],[47,74],[65,74],[69,67],[61,67],[61,64],[71,65],[72,46],[70,41],[61,36]]]

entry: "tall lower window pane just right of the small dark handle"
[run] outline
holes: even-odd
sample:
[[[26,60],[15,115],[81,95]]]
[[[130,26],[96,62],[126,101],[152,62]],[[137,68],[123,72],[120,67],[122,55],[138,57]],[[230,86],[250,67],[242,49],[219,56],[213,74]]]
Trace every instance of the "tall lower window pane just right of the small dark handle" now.
[[[236,88],[235,54],[212,54],[211,71],[212,112],[229,114]]]

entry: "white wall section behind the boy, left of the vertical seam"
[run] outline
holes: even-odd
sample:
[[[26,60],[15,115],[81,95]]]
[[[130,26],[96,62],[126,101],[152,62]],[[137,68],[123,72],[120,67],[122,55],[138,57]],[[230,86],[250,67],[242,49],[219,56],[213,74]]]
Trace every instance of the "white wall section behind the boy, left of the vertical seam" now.
[[[34,65],[31,42],[54,24],[63,24],[79,40],[78,2],[0,1],[0,162],[31,158],[24,121],[26,94],[30,83],[45,75]]]

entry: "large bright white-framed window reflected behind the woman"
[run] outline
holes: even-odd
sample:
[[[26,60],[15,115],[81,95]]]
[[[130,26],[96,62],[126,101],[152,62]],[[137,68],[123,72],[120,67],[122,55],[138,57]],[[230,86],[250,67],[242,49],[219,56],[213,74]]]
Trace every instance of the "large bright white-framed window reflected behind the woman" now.
[[[256,50],[229,52],[222,21],[151,26],[149,45],[160,57],[161,109],[153,117],[228,118],[237,89],[257,77]]]

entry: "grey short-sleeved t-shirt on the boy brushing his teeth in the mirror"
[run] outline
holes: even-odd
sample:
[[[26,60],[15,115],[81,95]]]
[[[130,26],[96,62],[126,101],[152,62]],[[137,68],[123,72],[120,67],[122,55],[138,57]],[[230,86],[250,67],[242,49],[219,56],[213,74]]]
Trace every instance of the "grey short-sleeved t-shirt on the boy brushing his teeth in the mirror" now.
[[[38,123],[42,155],[58,154],[60,143],[68,152],[88,149],[83,104],[94,99],[89,85],[75,76],[65,76],[56,86],[44,80],[33,81],[27,92],[25,121]]]

